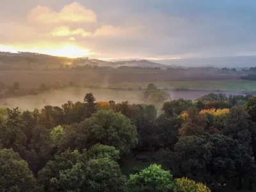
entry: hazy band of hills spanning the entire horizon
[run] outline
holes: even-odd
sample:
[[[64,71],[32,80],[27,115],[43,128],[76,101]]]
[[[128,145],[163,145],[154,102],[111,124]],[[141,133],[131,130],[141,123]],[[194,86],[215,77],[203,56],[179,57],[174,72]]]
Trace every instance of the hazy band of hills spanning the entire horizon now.
[[[38,54],[35,52],[0,52],[0,66],[12,64],[12,66],[28,64],[33,67],[58,68],[65,66],[110,66],[110,67],[160,67],[166,69],[172,67],[227,67],[244,68],[255,67],[256,56],[230,56],[216,58],[186,58],[175,60],[98,60],[93,58],[67,58],[51,56],[48,54]]]

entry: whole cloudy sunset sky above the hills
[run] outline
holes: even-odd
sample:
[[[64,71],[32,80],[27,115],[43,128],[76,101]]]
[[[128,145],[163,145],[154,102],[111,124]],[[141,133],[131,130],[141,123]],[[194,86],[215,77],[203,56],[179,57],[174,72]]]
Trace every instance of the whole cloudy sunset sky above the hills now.
[[[256,55],[255,0],[0,1],[0,51],[171,60]]]

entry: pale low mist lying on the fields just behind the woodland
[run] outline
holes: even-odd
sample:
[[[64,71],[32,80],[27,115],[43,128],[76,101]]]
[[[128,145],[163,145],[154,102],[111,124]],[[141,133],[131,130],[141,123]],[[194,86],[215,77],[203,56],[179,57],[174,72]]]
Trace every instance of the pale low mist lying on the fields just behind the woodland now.
[[[49,92],[40,93],[38,95],[29,95],[25,97],[13,97],[0,100],[0,108],[16,108],[20,110],[41,109],[45,105],[61,106],[68,100],[72,102],[83,102],[84,95],[92,92],[95,98],[99,101],[115,100],[115,102],[128,101],[130,103],[143,103],[143,91],[124,91],[124,90],[107,90],[93,88],[67,88],[65,90],[51,90]],[[196,91],[196,92],[170,92],[171,99],[197,99],[211,92]],[[217,93],[217,92],[216,92]],[[240,92],[221,92],[227,95],[239,95]]]

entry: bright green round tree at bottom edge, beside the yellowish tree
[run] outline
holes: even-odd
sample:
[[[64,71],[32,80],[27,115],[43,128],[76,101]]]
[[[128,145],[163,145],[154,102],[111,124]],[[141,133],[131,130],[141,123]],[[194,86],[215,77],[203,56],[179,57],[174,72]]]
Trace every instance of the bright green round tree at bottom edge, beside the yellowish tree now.
[[[140,173],[130,175],[129,188],[132,191],[167,192],[175,186],[172,175],[164,171],[161,165],[151,164]]]

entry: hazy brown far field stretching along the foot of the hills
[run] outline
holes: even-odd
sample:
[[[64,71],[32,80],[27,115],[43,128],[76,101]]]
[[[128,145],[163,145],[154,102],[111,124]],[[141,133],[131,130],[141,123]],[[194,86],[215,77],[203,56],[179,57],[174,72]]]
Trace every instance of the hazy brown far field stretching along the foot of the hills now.
[[[236,74],[218,74],[205,71],[130,71],[130,70],[0,70],[0,82],[6,85],[12,85],[15,81],[19,82],[24,88],[36,88],[40,84],[50,84],[58,81],[61,84],[67,84],[72,81],[77,84],[97,84],[98,86],[147,86],[148,82],[157,83],[159,86],[170,88],[188,87],[198,90],[198,84],[193,81],[206,81],[207,83],[214,80],[227,80],[230,82],[241,76]],[[208,82],[207,82],[208,81]],[[138,83],[140,82],[140,83]],[[234,81],[236,82],[236,81]],[[221,89],[221,81],[216,81],[214,90]],[[200,84],[199,84],[200,85]],[[207,89],[209,90],[209,89]]]

